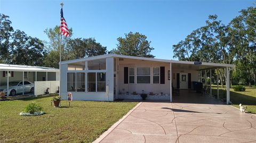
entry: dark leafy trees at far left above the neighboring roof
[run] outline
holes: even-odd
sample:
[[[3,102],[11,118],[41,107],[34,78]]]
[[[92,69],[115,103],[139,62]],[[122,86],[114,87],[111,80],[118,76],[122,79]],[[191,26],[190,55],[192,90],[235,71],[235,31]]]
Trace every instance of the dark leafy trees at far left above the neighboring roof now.
[[[42,65],[44,44],[25,32],[13,30],[9,16],[0,14],[0,62],[6,64]]]

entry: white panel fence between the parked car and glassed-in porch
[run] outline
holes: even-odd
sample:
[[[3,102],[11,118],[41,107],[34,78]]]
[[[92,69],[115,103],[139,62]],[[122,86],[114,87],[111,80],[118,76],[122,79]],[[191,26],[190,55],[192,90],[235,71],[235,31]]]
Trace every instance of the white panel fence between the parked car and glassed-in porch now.
[[[60,86],[60,81],[35,81],[35,94],[34,95],[44,95],[46,94],[46,89],[49,88],[49,94],[57,93]]]

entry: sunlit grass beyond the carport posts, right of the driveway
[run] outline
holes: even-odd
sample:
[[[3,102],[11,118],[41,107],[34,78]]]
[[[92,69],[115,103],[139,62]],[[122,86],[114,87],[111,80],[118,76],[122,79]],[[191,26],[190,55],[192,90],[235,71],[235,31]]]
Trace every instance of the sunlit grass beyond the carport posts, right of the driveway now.
[[[256,114],[256,88],[249,88],[248,86],[244,86],[245,91],[239,92],[234,91],[234,86],[230,88],[230,101],[233,103],[233,106],[239,107],[239,104],[247,106],[247,111],[249,113]],[[217,86],[214,85],[212,90],[212,94],[217,96]],[[219,96],[220,98],[226,98],[226,90],[219,88]]]

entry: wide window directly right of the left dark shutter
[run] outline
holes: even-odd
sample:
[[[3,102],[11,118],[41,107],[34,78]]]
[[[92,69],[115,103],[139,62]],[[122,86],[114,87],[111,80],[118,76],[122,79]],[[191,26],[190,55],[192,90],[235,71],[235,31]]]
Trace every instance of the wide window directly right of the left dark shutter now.
[[[150,83],[150,68],[137,68],[137,83]]]

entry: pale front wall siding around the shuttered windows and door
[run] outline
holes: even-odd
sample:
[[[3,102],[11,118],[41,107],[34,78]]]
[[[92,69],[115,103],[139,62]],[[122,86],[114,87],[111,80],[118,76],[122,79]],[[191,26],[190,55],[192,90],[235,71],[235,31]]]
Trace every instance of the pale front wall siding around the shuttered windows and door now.
[[[124,67],[150,67],[151,74],[153,67],[165,67],[165,84],[153,83],[152,75],[151,75],[151,83],[149,84],[124,84]],[[168,80],[168,71],[170,70],[170,63],[165,62],[154,62],[154,61],[142,61],[142,60],[132,60],[132,59],[124,59],[123,61],[119,61],[119,91],[117,94],[132,94],[132,92],[136,92],[137,94],[141,94],[142,90],[144,93],[149,94],[149,92],[153,92],[154,94],[159,94],[163,92],[163,94],[170,94],[170,80]],[[198,81],[198,71],[190,70],[190,69],[174,69],[172,68],[172,84],[174,88],[177,88],[177,73],[191,73],[191,81]],[[175,77],[173,79],[173,73],[175,73]],[[136,81],[136,77],[135,77]],[[191,83],[191,88],[193,85]]]

